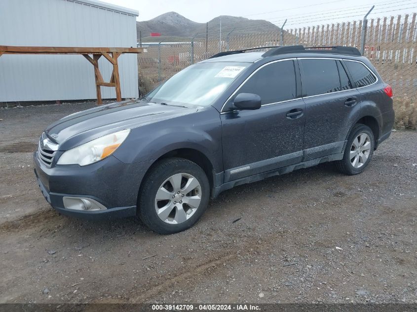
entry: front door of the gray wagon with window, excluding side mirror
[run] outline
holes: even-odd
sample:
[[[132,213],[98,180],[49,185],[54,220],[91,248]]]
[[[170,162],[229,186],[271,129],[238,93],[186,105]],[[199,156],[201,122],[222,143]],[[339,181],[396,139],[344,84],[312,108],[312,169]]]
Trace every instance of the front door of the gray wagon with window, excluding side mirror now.
[[[263,65],[224,106],[224,182],[301,162],[305,104],[297,98],[295,62],[283,60]],[[234,97],[240,93],[259,95],[261,108],[231,110]]]

